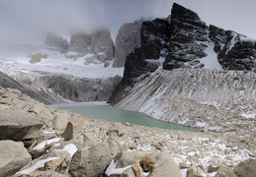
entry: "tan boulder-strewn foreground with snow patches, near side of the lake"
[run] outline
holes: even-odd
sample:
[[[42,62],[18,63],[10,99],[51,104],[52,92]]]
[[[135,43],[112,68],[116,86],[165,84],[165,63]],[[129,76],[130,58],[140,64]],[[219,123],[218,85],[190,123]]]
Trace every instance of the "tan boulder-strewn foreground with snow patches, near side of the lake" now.
[[[110,123],[0,88],[0,176],[255,176],[256,132]]]

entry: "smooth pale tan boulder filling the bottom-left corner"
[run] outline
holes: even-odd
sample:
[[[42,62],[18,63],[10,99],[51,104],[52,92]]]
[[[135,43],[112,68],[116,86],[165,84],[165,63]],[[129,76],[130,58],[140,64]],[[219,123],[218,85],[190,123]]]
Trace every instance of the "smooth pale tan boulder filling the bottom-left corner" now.
[[[0,176],[14,175],[32,158],[21,142],[0,141]]]

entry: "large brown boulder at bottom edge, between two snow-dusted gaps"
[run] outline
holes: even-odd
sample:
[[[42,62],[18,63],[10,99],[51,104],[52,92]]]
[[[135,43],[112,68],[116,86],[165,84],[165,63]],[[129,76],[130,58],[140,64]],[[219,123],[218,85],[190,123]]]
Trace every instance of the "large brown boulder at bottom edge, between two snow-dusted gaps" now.
[[[107,143],[83,148],[72,157],[68,172],[71,176],[100,176],[104,173],[111,159],[111,149]]]

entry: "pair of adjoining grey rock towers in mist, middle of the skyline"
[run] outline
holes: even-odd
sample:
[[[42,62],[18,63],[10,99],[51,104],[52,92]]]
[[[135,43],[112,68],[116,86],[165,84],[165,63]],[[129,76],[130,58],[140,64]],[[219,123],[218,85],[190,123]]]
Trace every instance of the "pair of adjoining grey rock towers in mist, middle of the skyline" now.
[[[87,54],[94,54],[94,62],[99,63],[114,58],[114,43],[110,29],[98,29],[92,33],[80,32],[71,35],[70,44],[65,50],[66,57],[78,58]]]

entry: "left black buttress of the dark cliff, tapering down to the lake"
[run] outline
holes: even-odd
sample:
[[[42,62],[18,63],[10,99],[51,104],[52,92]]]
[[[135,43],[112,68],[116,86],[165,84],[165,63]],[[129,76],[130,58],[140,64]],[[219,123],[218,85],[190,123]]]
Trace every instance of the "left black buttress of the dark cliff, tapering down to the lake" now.
[[[124,78],[119,83],[109,102],[116,103],[128,94],[127,87],[138,80],[147,77],[147,74],[156,71],[161,65],[158,62],[161,51],[166,50],[169,39],[167,20],[156,19],[153,22],[143,22],[140,29],[140,47],[134,49],[127,56]],[[150,38],[152,36],[152,38]],[[149,59],[149,60],[148,60]],[[152,60],[155,62],[152,62]]]

